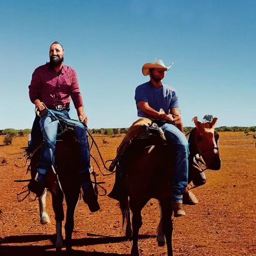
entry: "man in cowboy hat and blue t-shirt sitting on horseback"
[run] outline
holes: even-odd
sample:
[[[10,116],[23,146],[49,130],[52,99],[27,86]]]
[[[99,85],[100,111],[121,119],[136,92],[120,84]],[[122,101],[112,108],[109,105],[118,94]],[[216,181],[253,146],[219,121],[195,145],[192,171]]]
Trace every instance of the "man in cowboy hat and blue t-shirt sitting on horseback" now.
[[[172,65],[172,63],[171,63]],[[174,216],[185,215],[182,205],[182,195],[187,186],[188,178],[188,142],[183,134],[183,124],[180,116],[178,105],[178,96],[176,90],[162,83],[165,72],[171,67],[166,67],[162,60],[155,59],[154,63],[145,63],[142,66],[143,75],[149,75],[150,80],[140,84],[135,89],[135,102],[137,107],[137,115],[142,117],[133,123],[128,133],[124,137],[122,143],[117,149],[117,158],[121,159],[125,147],[125,141],[128,141],[135,134],[135,129],[139,125],[148,125],[150,120],[163,120],[162,124],[158,124],[166,140],[170,141],[176,150],[176,158],[173,172],[172,182],[172,208]],[[160,111],[162,109],[164,112]],[[113,169],[116,164],[116,158],[109,166]],[[120,168],[117,168],[120,169]],[[108,195],[111,198],[118,198],[118,175],[113,190]],[[119,183],[120,184],[120,183]],[[115,189],[116,188],[116,189]]]

